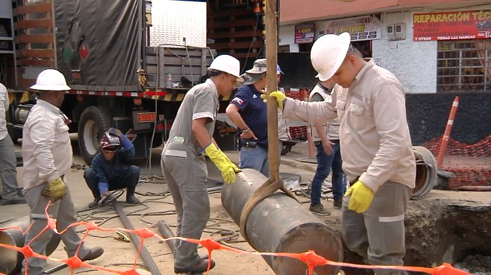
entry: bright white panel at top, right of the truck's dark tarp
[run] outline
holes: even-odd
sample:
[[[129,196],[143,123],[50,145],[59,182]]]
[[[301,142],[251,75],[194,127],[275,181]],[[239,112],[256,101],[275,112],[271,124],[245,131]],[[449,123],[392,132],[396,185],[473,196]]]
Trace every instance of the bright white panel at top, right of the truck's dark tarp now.
[[[150,45],[160,44],[206,47],[206,3],[152,1]]]

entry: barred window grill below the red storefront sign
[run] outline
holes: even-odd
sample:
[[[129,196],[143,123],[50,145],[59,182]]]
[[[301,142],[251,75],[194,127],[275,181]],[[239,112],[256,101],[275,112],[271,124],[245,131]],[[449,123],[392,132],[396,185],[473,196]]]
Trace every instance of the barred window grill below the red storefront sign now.
[[[438,41],[437,91],[491,91],[491,41]]]

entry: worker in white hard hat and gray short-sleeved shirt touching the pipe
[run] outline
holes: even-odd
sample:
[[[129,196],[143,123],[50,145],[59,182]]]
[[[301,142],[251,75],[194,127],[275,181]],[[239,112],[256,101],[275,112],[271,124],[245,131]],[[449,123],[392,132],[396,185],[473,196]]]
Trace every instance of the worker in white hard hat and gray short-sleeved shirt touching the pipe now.
[[[160,164],[176,207],[178,237],[200,239],[210,217],[204,156],[217,166],[227,184],[235,182],[235,174],[241,171],[213,140],[218,97],[229,96],[243,82],[239,71],[239,60],[217,56],[208,68],[208,80],[186,93],[172,123]],[[197,243],[176,241],[174,272],[202,273],[208,264],[215,266],[214,261],[197,254]]]

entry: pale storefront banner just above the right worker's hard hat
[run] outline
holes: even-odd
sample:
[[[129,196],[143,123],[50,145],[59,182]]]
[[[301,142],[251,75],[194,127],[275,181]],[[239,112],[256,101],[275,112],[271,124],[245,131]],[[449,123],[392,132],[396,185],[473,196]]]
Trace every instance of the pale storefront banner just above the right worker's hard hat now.
[[[352,41],[380,39],[381,21],[375,15],[326,21],[325,34],[343,32],[349,32]]]

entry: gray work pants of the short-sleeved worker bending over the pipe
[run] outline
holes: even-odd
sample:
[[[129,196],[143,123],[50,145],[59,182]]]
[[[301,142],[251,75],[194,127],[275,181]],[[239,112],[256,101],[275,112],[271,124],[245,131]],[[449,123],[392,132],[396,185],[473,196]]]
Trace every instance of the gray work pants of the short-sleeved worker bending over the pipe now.
[[[201,239],[210,218],[210,200],[206,190],[208,170],[204,156],[195,156],[186,145],[162,152],[162,171],[177,213],[176,236]],[[180,155],[180,156],[177,156]],[[198,261],[197,244],[176,241],[174,267],[191,267]]]

